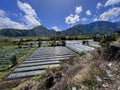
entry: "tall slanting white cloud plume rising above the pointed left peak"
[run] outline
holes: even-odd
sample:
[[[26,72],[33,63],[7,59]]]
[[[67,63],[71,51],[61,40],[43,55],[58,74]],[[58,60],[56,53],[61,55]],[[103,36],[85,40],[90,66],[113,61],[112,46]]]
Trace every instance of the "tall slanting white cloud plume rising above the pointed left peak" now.
[[[25,13],[23,19],[25,19],[24,21],[26,22],[28,28],[33,28],[35,26],[41,25],[35,10],[28,3],[23,3],[18,0],[17,4],[20,10]]]

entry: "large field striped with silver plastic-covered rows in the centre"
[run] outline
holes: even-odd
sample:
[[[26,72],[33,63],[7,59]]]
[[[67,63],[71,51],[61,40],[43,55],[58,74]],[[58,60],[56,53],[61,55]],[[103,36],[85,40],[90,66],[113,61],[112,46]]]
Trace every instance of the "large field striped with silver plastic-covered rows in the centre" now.
[[[38,75],[48,67],[57,67],[60,62],[76,53],[66,47],[41,47],[19,65],[6,79]]]

